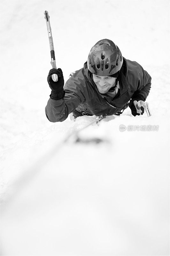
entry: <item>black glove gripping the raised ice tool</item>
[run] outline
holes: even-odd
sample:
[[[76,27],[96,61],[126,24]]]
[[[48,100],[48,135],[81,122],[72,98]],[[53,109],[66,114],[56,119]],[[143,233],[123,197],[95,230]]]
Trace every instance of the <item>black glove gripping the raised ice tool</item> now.
[[[52,80],[52,75],[53,74],[57,74],[58,76],[58,81],[54,82]],[[64,86],[64,77],[63,77],[63,72],[61,70],[61,68],[52,68],[49,71],[49,74],[47,76],[47,82],[50,86],[51,89],[51,94],[50,94],[50,98],[53,100],[60,100],[64,98],[65,92],[63,89]]]

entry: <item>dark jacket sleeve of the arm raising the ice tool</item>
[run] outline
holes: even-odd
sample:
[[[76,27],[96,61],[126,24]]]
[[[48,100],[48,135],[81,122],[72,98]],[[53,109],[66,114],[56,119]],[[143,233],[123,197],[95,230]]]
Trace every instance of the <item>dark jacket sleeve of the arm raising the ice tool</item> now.
[[[78,72],[78,73],[77,73]],[[80,103],[85,101],[81,70],[71,76],[64,86],[65,96],[60,100],[49,99],[45,107],[45,113],[50,122],[63,122]],[[79,77],[80,76],[80,77]],[[85,85],[84,85],[85,86]]]

